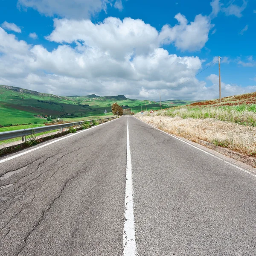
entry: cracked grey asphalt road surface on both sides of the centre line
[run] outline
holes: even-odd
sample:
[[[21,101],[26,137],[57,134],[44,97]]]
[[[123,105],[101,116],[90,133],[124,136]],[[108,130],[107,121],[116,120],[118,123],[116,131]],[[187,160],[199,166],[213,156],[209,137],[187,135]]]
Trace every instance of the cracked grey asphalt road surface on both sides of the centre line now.
[[[127,122],[0,158],[0,256],[122,255]],[[256,177],[132,117],[129,138],[137,255],[256,255]]]

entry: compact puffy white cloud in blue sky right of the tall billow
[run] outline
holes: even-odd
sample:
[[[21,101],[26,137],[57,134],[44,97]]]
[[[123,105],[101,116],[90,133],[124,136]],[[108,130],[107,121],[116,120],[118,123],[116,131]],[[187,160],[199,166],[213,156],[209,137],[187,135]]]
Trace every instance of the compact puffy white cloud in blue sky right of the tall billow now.
[[[175,19],[178,21],[175,26],[163,26],[159,35],[160,42],[162,44],[173,43],[182,51],[201,50],[208,41],[209,31],[213,27],[209,18],[200,14],[188,24],[186,17],[178,13]]]

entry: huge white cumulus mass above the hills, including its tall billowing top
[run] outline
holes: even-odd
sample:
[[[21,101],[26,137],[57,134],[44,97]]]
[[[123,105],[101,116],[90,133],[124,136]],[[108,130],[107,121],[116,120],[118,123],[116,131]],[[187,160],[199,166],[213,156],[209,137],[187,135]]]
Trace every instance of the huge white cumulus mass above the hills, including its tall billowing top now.
[[[201,70],[203,60],[170,54],[161,48],[157,30],[142,20],[107,21],[55,20],[49,39],[65,44],[52,51],[0,28],[0,84],[58,95],[124,94],[158,100],[161,92],[163,100],[213,97],[204,81],[183,83]],[[76,47],[68,44],[73,42]]]

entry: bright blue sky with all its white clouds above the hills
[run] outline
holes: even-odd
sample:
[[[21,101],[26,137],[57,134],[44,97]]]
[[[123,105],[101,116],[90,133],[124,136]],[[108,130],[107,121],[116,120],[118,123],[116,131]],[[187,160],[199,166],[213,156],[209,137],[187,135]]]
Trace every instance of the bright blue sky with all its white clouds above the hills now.
[[[255,0],[0,0],[0,84],[212,99],[221,56],[222,95],[252,92],[255,28]]]

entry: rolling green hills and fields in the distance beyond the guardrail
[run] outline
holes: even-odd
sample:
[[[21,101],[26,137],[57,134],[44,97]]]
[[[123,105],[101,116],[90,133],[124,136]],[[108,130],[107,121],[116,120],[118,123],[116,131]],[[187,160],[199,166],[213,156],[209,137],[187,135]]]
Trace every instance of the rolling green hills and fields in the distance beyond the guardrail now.
[[[127,99],[123,95],[118,96],[56,96],[47,93],[26,90],[19,87],[0,85],[0,127],[25,124],[44,124],[48,119],[57,118],[64,121],[93,119],[112,115],[111,106],[117,103],[122,108],[130,109],[137,113],[141,110],[158,110],[160,102],[149,100]],[[182,100],[170,100],[162,102],[162,109],[171,106],[189,104]],[[40,117],[38,117],[41,116]],[[50,116],[50,117],[49,117]],[[42,118],[44,117],[44,118]],[[15,129],[20,126],[15,126]]]

